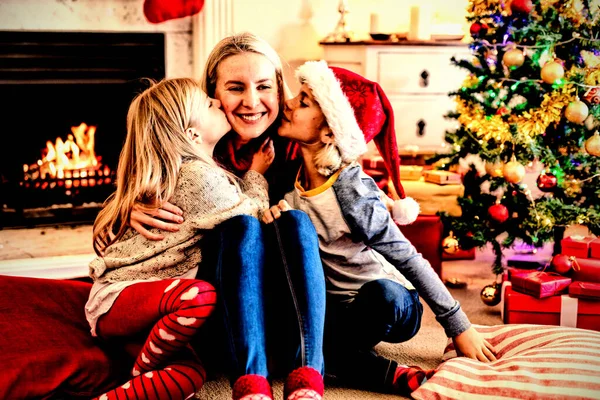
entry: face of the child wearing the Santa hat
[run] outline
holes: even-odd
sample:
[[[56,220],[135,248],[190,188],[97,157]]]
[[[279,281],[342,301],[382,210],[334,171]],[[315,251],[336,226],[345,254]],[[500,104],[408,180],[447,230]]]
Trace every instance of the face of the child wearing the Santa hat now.
[[[303,84],[298,96],[285,102],[279,136],[304,144],[314,144],[321,141],[324,126],[325,115],[308,85]]]

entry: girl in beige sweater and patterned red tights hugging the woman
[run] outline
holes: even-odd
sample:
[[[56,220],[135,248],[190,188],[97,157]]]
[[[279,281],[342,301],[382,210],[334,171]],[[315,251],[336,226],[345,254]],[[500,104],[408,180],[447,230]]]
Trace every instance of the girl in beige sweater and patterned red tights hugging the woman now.
[[[90,263],[94,285],[85,311],[92,335],[141,338],[132,379],[101,399],[185,399],[206,377],[189,346],[213,312],[216,291],[195,279],[203,267],[207,231],[238,215],[268,207],[264,172],[274,152],[265,143],[241,178],[213,160],[215,144],[231,126],[218,100],[193,79],[167,79],[139,94],[127,115],[117,190],[93,229],[98,254]],[[161,242],[129,228],[136,202],[169,201],[186,215]]]

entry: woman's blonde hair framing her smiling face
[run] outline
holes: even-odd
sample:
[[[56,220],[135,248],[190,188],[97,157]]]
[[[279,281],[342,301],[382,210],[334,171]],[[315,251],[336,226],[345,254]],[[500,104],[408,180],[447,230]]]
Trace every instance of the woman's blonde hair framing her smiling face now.
[[[215,97],[217,87],[217,69],[221,62],[228,57],[243,53],[255,53],[264,56],[275,67],[275,79],[277,81],[277,95],[279,98],[279,115],[283,111],[284,102],[290,99],[291,92],[285,80],[283,79],[283,65],[279,54],[271,47],[269,43],[260,37],[243,32],[227,36],[213,48],[208,55],[202,74],[202,89],[210,96]],[[276,129],[275,124],[269,129]]]

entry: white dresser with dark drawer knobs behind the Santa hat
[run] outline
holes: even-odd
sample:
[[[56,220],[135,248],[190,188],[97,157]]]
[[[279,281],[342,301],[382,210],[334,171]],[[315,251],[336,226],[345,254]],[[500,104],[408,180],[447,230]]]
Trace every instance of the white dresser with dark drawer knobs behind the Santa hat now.
[[[394,108],[401,154],[444,151],[446,130],[457,127],[456,121],[444,118],[456,109],[448,93],[458,90],[467,76],[450,59],[470,58],[466,44],[365,41],[321,45],[330,65],[349,69],[381,85]],[[369,153],[373,151],[371,145]]]

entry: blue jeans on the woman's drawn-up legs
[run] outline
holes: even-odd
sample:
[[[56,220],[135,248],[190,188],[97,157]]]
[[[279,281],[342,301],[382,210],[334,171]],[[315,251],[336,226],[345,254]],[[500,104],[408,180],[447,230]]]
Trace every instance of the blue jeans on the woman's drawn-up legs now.
[[[308,216],[292,210],[268,225],[237,216],[215,233],[214,281],[231,381],[246,374],[269,377],[267,353],[288,338],[287,372],[308,366],[323,373],[325,278]]]

